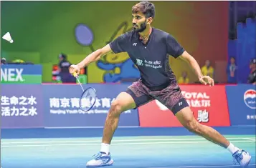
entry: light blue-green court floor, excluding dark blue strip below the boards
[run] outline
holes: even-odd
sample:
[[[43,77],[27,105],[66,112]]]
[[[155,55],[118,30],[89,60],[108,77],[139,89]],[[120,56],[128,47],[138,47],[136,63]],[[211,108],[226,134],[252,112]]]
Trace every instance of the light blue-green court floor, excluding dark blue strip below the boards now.
[[[225,136],[252,155],[255,135]],[[2,168],[85,168],[100,149],[100,138],[1,139]],[[222,147],[198,136],[114,137],[113,168],[238,167]]]

